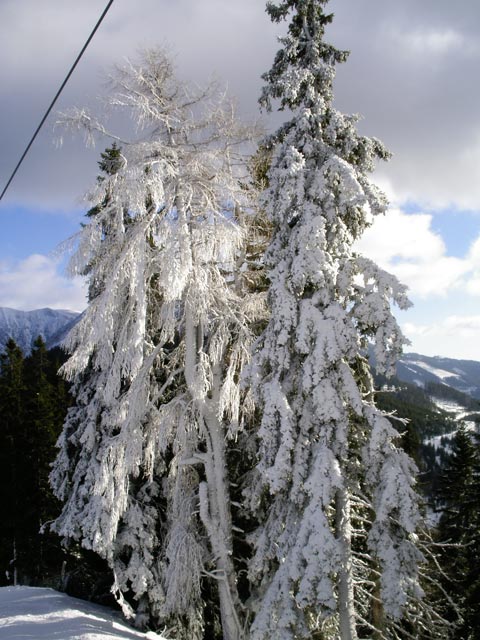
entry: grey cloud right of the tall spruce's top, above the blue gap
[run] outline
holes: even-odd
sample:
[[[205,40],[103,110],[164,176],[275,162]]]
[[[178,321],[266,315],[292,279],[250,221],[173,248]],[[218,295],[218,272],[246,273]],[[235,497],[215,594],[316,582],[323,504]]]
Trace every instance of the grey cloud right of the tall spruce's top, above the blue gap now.
[[[381,169],[394,190],[432,206],[480,210],[474,157],[480,157],[480,7],[333,0],[332,36],[351,50],[337,81],[337,102],[364,116],[361,128],[394,157]],[[412,50],[432,34],[458,34],[444,50]],[[468,156],[472,162],[468,161]]]

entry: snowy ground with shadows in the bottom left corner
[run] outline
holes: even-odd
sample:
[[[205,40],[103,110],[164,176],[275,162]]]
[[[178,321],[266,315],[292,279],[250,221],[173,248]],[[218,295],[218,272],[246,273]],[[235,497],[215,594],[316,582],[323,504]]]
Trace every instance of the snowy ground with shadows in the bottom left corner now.
[[[0,588],[0,640],[162,640],[128,627],[106,607],[53,589]]]

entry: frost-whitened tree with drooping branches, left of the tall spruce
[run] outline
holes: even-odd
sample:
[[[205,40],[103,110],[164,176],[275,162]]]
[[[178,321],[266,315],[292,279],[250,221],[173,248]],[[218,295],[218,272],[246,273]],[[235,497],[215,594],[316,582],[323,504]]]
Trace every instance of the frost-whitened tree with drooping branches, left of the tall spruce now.
[[[145,135],[121,142],[74,256],[91,300],[63,367],[76,404],[52,472],[65,501],[54,527],[107,558],[137,622],[202,638],[210,581],[217,635],[238,640],[227,448],[251,410],[239,378],[261,307],[232,273],[247,193],[238,150],[252,130],[212,88],[179,82],[161,51],[117,70],[114,89]],[[105,132],[84,111],[67,121]]]

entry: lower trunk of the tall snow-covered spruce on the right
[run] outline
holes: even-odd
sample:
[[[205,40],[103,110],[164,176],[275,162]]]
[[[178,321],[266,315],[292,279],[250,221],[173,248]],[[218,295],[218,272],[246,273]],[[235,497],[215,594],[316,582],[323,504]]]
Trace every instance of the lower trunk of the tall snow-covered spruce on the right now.
[[[336,500],[336,535],[342,558],[338,572],[338,613],[341,640],[357,640],[352,576],[352,523],[348,491],[338,489]]]

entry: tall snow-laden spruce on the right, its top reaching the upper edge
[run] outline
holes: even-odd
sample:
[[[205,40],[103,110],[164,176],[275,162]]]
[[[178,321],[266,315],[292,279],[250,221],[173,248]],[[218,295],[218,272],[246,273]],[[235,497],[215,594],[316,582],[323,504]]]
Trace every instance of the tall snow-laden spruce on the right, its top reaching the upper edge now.
[[[261,519],[254,640],[405,638],[404,612],[421,616],[415,468],[374,405],[364,357],[372,341],[379,370],[391,370],[404,339],[390,304],[409,303],[353,249],[386,210],[367,176],[388,154],[333,107],[347,54],[323,41],[325,4],[267,3],[273,21],[292,16],[261,104],[292,116],[266,142],[271,318],[249,373],[263,412],[249,496]]]

